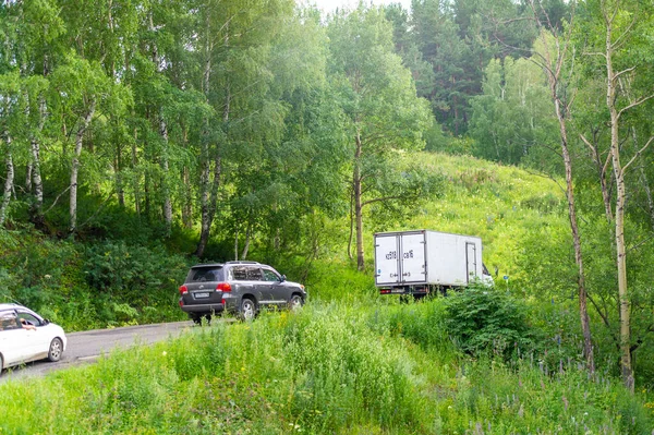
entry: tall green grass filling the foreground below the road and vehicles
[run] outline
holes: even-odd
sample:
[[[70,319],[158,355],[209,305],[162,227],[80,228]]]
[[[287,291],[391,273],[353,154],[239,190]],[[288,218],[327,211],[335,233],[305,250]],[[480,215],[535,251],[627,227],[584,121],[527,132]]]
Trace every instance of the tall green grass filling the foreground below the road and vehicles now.
[[[0,385],[8,434],[649,434],[652,400],[573,362],[471,360],[444,301],[215,322]]]

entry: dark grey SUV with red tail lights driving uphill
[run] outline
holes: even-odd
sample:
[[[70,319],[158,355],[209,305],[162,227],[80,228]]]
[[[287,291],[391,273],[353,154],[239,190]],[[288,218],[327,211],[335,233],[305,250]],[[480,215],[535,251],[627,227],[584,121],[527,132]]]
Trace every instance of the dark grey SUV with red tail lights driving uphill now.
[[[256,262],[198,264],[180,287],[180,307],[196,324],[225,311],[251,319],[262,307],[294,310],[305,300],[304,286]]]

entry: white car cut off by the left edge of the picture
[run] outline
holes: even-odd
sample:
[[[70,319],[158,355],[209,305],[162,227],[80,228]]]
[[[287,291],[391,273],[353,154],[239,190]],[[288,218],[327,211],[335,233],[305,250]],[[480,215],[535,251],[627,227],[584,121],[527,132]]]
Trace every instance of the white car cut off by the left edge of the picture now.
[[[0,373],[29,361],[59,361],[65,343],[59,325],[22,305],[0,303]]]

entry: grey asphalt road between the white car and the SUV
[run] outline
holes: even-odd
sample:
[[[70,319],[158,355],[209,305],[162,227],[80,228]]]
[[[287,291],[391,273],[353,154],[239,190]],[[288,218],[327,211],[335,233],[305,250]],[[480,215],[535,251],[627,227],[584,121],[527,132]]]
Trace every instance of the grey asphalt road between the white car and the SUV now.
[[[125,349],[132,346],[152,345],[169,337],[177,337],[183,330],[193,327],[193,322],[177,322],[155,325],[125,326],[113,329],[85,330],[66,334],[68,346],[59,362],[36,361],[4,372],[1,382],[39,376],[47,372],[65,368],[73,364],[96,361],[112,349]]]

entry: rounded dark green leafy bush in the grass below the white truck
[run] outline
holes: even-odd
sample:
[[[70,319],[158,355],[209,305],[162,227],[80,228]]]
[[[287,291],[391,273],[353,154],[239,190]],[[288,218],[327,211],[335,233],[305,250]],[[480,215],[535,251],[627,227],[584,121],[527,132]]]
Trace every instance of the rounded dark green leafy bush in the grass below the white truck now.
[[[471,286],[447,299],[445,314],[450,337],[473,357],[508,361],[535,347],[524,305],[502,291]]]

